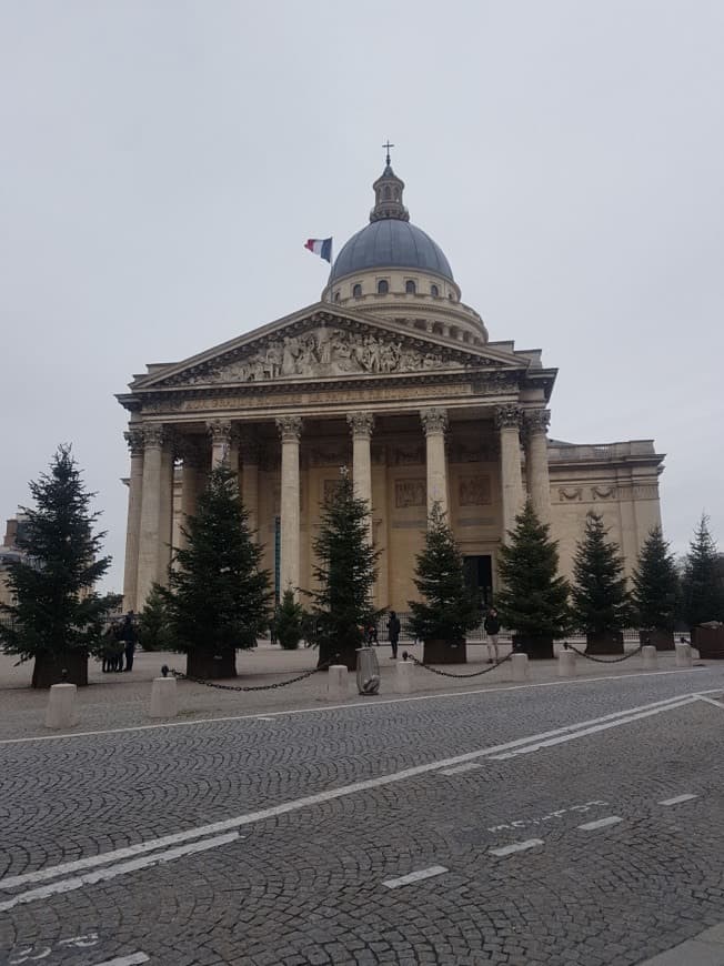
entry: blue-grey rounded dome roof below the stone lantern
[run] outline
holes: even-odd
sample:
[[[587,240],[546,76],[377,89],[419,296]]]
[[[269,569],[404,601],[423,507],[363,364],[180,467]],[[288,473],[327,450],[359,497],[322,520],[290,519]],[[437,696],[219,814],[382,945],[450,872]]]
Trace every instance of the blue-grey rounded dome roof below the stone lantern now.
[[[353,234],[334,261],[330,282],[376,268],[434,272],[454,282],[440,245],[422,229],[400,218],[373,221]]]

